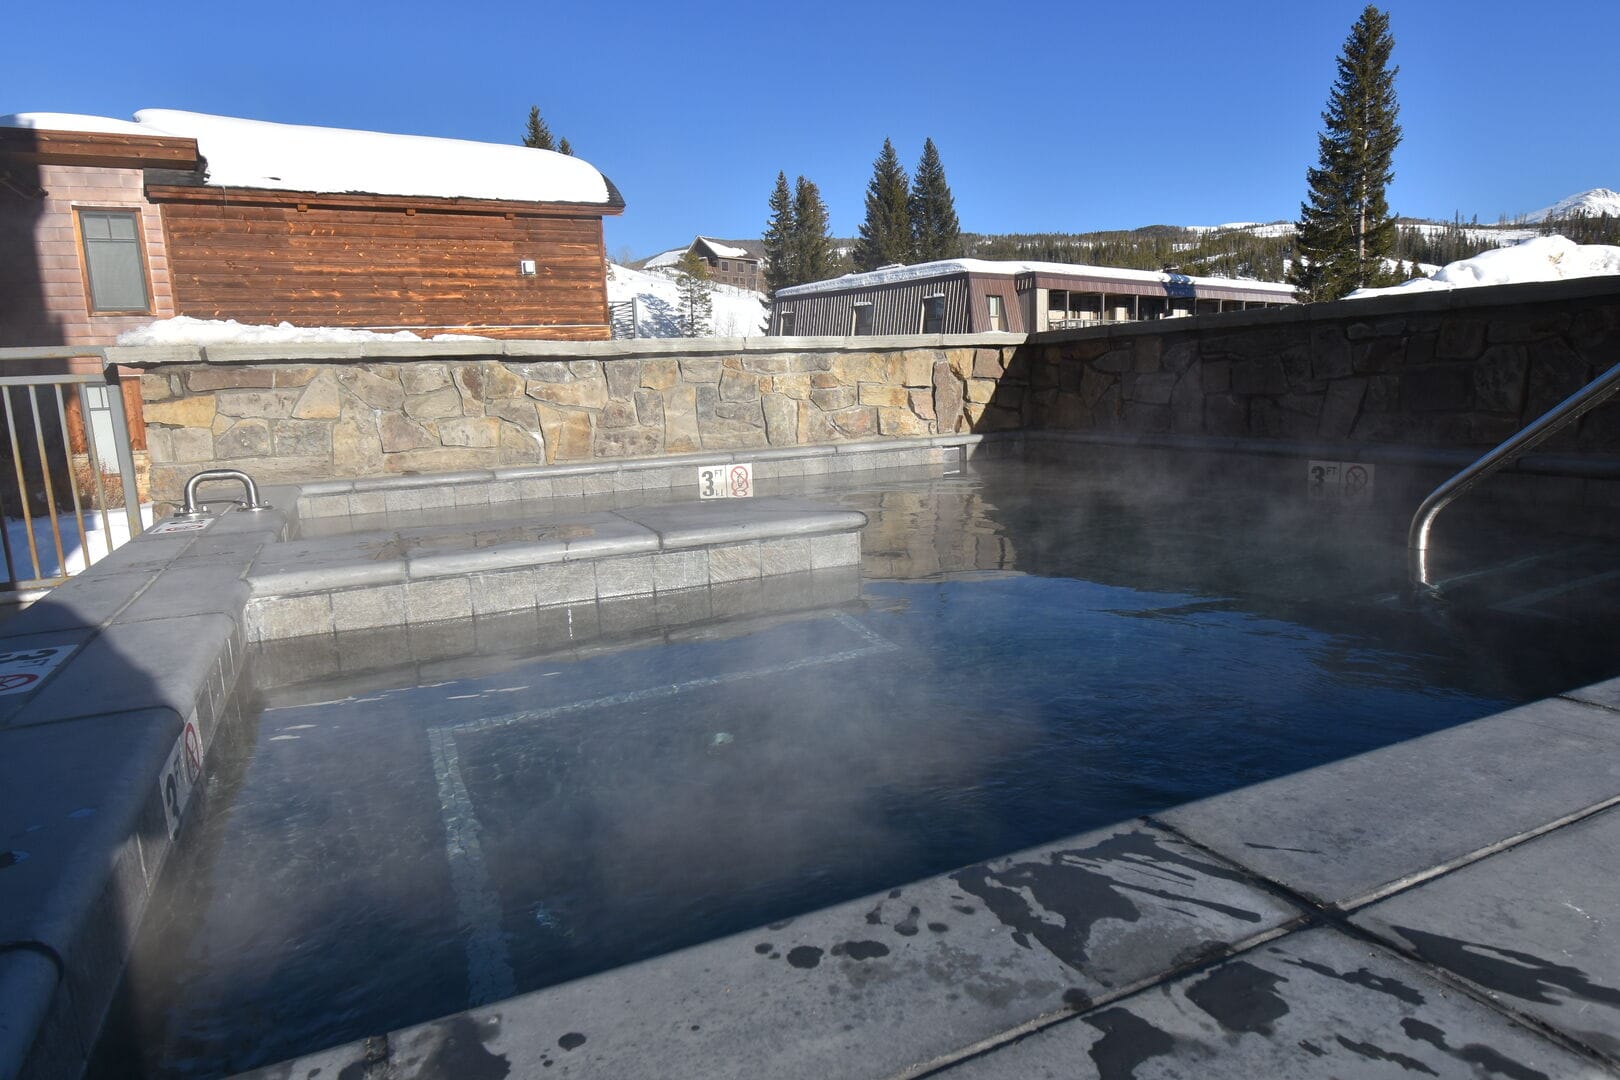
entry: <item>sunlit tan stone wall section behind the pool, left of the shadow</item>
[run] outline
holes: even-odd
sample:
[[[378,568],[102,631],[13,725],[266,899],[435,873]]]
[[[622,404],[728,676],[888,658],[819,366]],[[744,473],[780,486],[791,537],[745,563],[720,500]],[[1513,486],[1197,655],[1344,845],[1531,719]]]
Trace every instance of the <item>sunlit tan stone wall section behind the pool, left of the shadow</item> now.
[[[987,408],[964,402],[975,364],[1001,369],[1017,338],[859,351],[687,345],[685,355],[593,347],[515,358],[481,343],[450,356],[421,347],[311,363],[172,359],[141,379],[152,492],[173,504],[190,474],[214,466],[277,483],[951,434]]]

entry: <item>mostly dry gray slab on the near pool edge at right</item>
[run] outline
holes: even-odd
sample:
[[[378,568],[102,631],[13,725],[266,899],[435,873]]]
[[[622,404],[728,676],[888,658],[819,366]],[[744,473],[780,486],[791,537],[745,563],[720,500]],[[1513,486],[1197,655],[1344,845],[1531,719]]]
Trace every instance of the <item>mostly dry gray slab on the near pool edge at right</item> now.
[[[1620,725],[1537,701],[1158,814],[1319,904],[1354,907],[1620,795]]]

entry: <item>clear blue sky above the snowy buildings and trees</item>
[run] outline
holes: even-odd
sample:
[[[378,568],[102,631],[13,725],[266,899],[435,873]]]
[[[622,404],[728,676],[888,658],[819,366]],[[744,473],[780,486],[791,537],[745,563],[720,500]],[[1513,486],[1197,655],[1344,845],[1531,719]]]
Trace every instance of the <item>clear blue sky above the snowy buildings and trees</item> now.
[[[757,236],[776,172],[852,235],[885,136],[972,232],[1293,219],[1361,3],[11,5],[0,113],[190,108],[517,141],[530,104],[629,202],[611,254]],[[1482,222],[1620,188],[1620,3],[1395,0],[1390,204]],[[100,26],[99,31],[87,28]],[[19,47],[21,44],[21,47]]]

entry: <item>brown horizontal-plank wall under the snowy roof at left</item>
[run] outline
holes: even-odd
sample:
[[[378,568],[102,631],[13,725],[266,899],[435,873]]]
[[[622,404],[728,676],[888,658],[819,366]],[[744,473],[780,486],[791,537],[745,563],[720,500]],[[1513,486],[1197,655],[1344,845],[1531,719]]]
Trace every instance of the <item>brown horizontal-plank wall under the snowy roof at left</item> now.
[[[609,337],[596,215],[300,210],[202,201],[165,201],[162,209],[178,314]],[[535,259],[538,272],[518,275],[520,259]]]

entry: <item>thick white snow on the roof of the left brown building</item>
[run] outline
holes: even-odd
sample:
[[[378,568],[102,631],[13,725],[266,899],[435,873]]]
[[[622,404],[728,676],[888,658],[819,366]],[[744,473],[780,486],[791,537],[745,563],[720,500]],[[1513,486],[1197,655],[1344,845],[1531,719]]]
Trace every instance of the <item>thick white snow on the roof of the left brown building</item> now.
[[[590,162],[526,146],[311,128],[173,108],[143,108],[134,123],[71,113],[18,113],[0,123],[196,139],[207,160],[207,183],[220,188],[624,206],[619,191]]]

